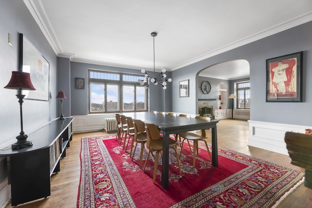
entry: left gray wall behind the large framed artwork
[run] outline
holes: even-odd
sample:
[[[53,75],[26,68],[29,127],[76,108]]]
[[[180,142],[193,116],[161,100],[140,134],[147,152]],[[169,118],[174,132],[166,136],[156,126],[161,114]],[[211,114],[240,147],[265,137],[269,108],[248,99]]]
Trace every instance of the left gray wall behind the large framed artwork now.
[[[49,101],[25,99],[22,105],[23,130],[27,134],[57,117],[57,57],[39,26],[21,0],[3,0],[0,6],[0,145],[14,140],[20,133],[20,104],[16,90],[3,87],[12,71],[18,71],[19,33],[37,48],[50,63]],[[8,33],[13,46],[8,44]],[[31,140],[31,139],[29,139]]]

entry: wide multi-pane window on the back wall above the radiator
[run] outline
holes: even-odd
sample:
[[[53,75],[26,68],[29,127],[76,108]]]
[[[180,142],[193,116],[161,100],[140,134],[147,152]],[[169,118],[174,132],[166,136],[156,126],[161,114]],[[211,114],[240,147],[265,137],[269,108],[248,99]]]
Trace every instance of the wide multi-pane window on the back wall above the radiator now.
[[[147,111],[144,76],[89,70],[89,113]]]

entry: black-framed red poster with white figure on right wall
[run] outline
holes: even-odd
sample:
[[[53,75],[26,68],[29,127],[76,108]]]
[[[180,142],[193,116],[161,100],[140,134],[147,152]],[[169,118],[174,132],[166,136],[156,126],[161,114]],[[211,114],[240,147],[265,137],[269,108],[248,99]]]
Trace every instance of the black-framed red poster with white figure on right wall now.
[[[302,102],[302,53],[266,60],[266,102]]]

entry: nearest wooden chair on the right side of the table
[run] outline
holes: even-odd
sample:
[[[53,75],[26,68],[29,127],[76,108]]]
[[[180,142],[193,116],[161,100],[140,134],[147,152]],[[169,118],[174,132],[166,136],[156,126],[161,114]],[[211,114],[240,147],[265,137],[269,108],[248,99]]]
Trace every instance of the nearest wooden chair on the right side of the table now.
[[[209,117],[204,117],[204,116],[196,116],[195,117],[196,119],[202,119],[202,120],[209,120]],[[198,135],[196,133],[193,133],[193,132],[182,132],[182,133],[178,133],[179,134],[179,137],[183,138],[182,140],[182,144],[181,144],[181,151],[180,151],[180,157],[181,157],[181,153],[182,153],[182,150],[183,150],[183,143],[184,143],[184,140],[186,139],[187,141],[189,140],[192,140],[194,143],[193,143],[193,167],[195,168],[195,159],[196,159],[196,153],[198,154],[198,141],[204,141],[205,142],[205,145],[206,145],[206,148],[207,148],[207,151],[208,151],[208,154],[209,154],[209,157],[210,157],[210,160],[212,161],[212,158],[211,158],[211,154],[210,154],[210,151],[209,151],[209,148],[208,148],[208,144],[207,144],[207,141],[205,139],[207,139],[208,137],[206,136],[206,129],[201,129],[201,135]],[[190,145],[190,143],[189,143]],[[190,149],[191,149],[191,146],[189,146]]]

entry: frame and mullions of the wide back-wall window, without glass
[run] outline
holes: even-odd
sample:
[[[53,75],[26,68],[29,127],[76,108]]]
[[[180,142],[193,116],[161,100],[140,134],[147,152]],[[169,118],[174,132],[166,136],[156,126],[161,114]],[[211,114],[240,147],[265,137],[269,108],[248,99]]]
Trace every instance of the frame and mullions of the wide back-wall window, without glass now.
[[[119,80],[113,80],[113,79],[104,79],[104,78],[90,78],[91,72],[97,72],[97,73],[107,73],[107,74],[117,74],[119,75]],[[123,112],[147,112],[148,111],[148,89],[145,89],[145,106],[146,108],[144,110],[137,110],[137,87],[144,87],[147,85],[147,81],[145,80],[145,83],[143,86],[140,85],[137,81],[124,81],[123,76],[138,76],[138,77],[144,77],[140,74],[129,74],[129,73],[120,73],[120,72],[112,72],[112,71],[105,71],[105,70],[95,70],[95,69],[89,69],[88,70],[88,113],[89,114],[97,114],[97,113],[123,113]],[[104,111],[99,112],[92,112],[91,111],[91,84],[92,83],[98,83],[104,85]],[[107,85],[118,85],[118,109],[117,111],[107,111]],[[123,111],[123,85],[132,85],[134,86],[134,110],[131,111]]]

